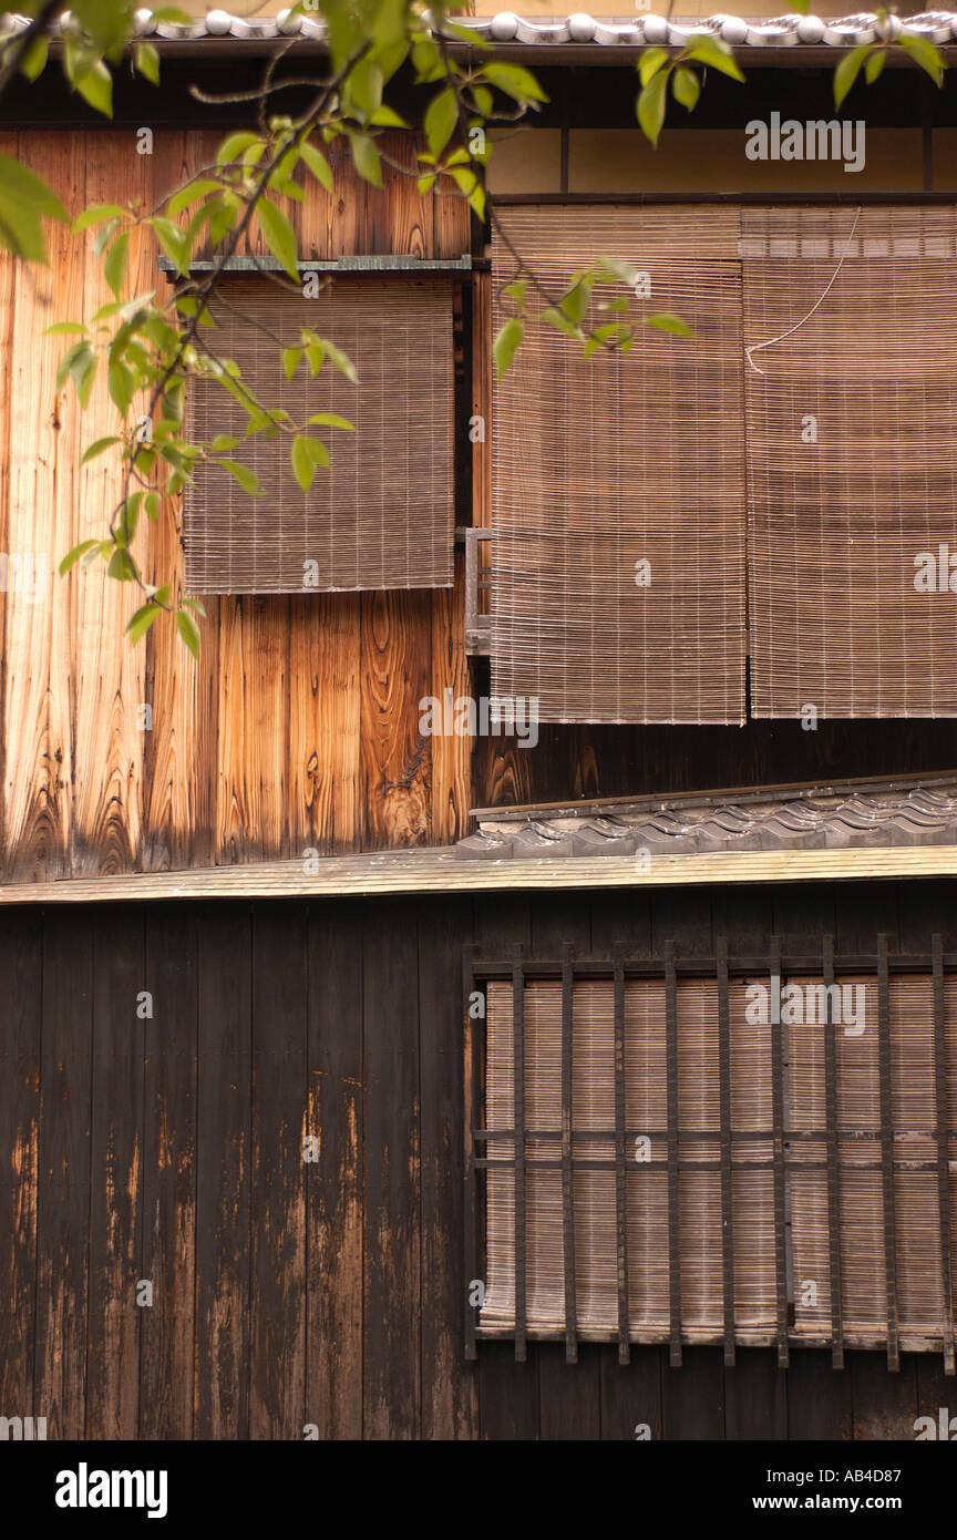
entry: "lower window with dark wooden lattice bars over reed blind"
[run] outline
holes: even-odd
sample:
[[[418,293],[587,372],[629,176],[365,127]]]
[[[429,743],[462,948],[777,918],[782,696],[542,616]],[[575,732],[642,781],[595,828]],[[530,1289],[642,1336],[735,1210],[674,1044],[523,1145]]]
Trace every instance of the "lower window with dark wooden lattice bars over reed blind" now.
[[[957,956],[472,964],[475,1338],[954,1372]],[[777,983],[775,983],[777,981]],[[485,1036],[485,1041],[483,1041]]]

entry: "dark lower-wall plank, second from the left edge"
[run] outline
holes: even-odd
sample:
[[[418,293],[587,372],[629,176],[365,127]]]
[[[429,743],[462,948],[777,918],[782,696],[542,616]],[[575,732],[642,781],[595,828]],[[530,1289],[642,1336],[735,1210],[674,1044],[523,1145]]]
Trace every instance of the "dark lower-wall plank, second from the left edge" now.
[[[34,1408],[48,1438],[82,1438],[86,1414],[92,921],[43,927],[37,1360]]]

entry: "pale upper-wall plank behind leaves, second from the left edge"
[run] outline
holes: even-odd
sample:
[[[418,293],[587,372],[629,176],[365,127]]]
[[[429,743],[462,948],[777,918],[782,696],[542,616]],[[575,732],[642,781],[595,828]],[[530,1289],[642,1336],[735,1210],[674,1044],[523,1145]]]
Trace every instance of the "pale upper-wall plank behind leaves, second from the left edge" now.
[[[135,136],[89,134],[86,139],[86,203],[152,205],[152,165],[137,154]],[[83,242],[86,262],[85,314],[111,303],[102,265],[94,256],[95,231]],[[80,253],[77,253],[77,257]],[[155,249],[148,231],[134,233],[129,243],[129,294],[157,288]],[[160,282],[165,282],[160,279]],[[115,325],[115,323],[114,323]],[[131,420],[149,405],[146,393],[134,402]],[[83,444],[120,428],[120,414],[109,399],[103,367],[83,414]],[[97,456],[80,470],[69,545],[103,537],[123,487],[122,460],[115,451]],[[74,810],[72,870],[125,872],[134,867],[142,839],[142,787],[146,728],[138,719],[146,704],[146,650],[125,638],[129,618],[143,602],[137,584],[106,576],[103,562],[92,562],[71,576],[74,591]]]

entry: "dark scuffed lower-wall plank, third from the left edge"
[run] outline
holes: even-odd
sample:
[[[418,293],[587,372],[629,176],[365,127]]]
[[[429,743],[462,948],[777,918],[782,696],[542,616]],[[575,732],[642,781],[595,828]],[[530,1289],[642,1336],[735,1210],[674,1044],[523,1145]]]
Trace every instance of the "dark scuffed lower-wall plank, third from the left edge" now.
[[[111,904],[94,930],[86,1438],[138,1426],[145,989],[143,907]]]

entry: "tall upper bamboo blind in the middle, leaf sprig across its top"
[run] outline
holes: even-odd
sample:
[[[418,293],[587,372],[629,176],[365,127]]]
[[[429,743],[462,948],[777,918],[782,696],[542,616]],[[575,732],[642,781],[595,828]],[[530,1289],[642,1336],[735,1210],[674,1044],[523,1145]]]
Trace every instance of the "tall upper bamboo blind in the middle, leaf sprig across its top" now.
[[[500,219],[546,286],[599,254],[629,260],[651,280],[635,306],[677,313],[695,339],[645,330],[629,356],[583,360],[529,322],[494,393],[492,690],[537,696],[551,722],[742,722],[737,211],[514,208]],[[514,273],[502,239],[492,266],[497,326]],[[597,297],[625,293],[608,285]]]

